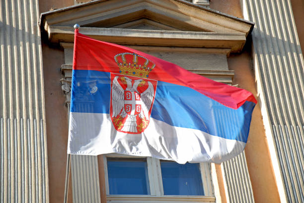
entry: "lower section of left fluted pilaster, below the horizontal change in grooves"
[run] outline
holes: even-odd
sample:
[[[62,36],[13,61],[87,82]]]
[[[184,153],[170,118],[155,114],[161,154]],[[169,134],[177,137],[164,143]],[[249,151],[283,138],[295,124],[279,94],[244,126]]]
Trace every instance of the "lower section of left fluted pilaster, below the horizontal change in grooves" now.
[[[13,125],[12,132],[10,131],[11,123]],[[18,125],[20,125],[20,131],[18,131]],[[31,133],[31,125],[34,126],[34,136],[32,136]],[[37,125],[39,125],[41,130],[40,137],[37,136]],[[43,120],[37,123],[36,119],[33,121],[30,119],[24,121],[24,119],[21,118],[18,121],[15,118],[13,122],[11,122],[9,118],[7,120],[0,118],[1,203],[47,202],[45,149],[43,147],[39,152],[37,147],[38,142],[40,142],[41,146],[45,145],[43,125]],[[5,128],[8,129],[6,133],[4,133]],[[25,140],[27,140],[27,142],[25,142]],[[32,145],[32,142],[34,142],[34,145]],[[37,156],[38,153],[42,154],[40,158]],[[34,154],[34,156],[31,154]],[[39,162],[41,164],[41,174],[37,173],[39,170]],[[41,196],[41,199],[39,196]]]

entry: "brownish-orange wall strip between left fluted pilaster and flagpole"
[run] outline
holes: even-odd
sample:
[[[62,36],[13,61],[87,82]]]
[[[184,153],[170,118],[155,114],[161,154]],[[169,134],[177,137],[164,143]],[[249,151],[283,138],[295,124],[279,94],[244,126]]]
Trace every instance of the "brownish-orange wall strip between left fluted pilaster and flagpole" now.
[[[61,91],[61,65],[64,52],[42,44],[44,88],[46,102],[46,126],[49,164],[50,203],[63,202],[68,146],[68,108]],[[69,190],[72,203],[72,190]]]

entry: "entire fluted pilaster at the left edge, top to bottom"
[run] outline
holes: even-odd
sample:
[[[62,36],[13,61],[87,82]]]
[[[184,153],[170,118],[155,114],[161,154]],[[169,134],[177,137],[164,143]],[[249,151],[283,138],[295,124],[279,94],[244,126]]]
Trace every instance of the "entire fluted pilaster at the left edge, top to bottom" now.
[[[0,0],[0,202],[49,202],[38,0]]]

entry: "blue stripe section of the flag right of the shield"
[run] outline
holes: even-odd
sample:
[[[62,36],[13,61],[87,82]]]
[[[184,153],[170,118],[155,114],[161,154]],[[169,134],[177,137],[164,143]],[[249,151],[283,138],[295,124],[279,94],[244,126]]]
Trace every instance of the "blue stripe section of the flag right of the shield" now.
[[[169,125],[246,143],[254,103],[232,109],[184,86],[157,82],[151,117]]]

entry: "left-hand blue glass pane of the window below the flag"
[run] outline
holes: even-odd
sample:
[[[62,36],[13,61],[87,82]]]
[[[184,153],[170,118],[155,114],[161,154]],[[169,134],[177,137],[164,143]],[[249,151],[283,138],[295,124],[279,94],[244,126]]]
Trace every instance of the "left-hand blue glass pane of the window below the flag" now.
[[[150,195],[147,159],[108,158],[110,195]]]

